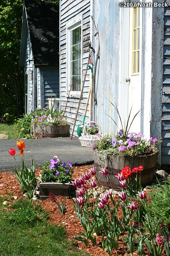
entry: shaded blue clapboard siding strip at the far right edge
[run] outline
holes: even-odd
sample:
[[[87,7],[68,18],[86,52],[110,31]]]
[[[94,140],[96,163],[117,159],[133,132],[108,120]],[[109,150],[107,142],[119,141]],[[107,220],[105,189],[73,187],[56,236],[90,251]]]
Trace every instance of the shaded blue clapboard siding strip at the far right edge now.
[[[161,164],[170,164],[170,4],[164,10]]]

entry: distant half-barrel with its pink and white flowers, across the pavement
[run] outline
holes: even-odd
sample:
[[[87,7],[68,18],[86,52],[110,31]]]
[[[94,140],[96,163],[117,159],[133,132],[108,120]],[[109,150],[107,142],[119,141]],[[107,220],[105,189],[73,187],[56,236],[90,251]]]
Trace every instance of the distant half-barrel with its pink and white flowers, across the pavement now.
[[[70,125],[63,111],[36,109],[32,113],[33,132],[35,137],[69,137]]]

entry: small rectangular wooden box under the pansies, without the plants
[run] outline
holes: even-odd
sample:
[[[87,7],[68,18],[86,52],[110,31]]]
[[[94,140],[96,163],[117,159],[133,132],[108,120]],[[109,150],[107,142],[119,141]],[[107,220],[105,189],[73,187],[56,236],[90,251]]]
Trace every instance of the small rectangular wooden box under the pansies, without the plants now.
[[[44,182],[40,183],[40,199],[44,200],[49,197],[49,193],[56,196],[70,196],[70,183]]]

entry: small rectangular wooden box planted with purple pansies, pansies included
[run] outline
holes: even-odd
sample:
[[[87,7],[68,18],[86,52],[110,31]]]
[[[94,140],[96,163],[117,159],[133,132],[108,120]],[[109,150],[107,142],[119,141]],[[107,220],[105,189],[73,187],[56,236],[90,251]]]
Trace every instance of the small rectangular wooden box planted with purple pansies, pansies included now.
[[[69,197],[73,173],[72,162],[62,163],[57,156],[54,156],[50,162],[46,162],[40,168],[42,168],[40,199],[48,198],[49,193]]]

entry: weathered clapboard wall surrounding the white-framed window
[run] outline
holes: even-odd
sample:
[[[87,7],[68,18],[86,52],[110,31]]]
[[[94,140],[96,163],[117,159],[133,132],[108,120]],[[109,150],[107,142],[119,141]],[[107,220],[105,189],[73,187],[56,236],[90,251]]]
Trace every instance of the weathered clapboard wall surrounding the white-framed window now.
[[[60,99],[61,109],[64,109],[67,102],[66,97],[66,24],[71,20],[75,20],[82,15],[82,81],[84,80],[84,73],[87,66],[87,60],[89,55],[89,41],[90,41],[90,0],[61,0],[60,1]],[[86,106],[87,96],[89,92],[89,74],[88,70],[86,81],[83,90],[83,99],[79,108],[76,126],[73,135],[77,135],[77,125],[82,122],[84,109]],[[70,97],[67,102],[66,115],[68,116],[68,122],[71,125],[71,129],[75,120],[77,112],[79,98]],[[88,121],[89,110],[86,114],[86,120]],[[71,130],[72,132],[72,130]]]

